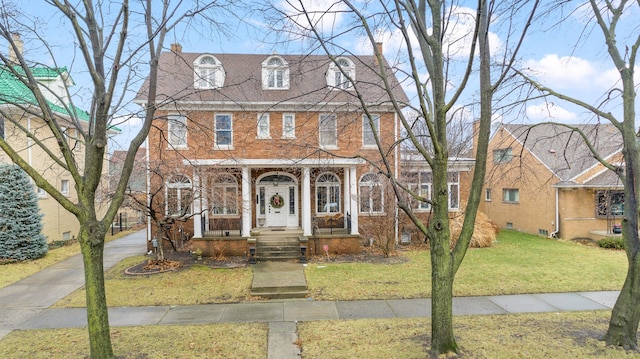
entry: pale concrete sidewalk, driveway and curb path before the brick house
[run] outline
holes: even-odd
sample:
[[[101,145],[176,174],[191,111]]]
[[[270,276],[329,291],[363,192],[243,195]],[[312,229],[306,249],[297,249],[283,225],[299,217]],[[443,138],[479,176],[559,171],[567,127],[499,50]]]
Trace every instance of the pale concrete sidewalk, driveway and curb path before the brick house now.
[[[123,258],[144,254],[145,232],[112,241],[105,248],[105,269]],[[0,339],[16,329],[86,326],[84,308],[49,308],[84,283],[82,258],[71,257],[0,289]],[[613,308],[618,291],[522,294],[453,299],[454,315],[543,313]],[[299,358],[296,322],[364,318],[429,317],[431,301],[390,299],[362,301],[270,300],[238,304],[109,308],[111,326],[268,322],[269,358]]]

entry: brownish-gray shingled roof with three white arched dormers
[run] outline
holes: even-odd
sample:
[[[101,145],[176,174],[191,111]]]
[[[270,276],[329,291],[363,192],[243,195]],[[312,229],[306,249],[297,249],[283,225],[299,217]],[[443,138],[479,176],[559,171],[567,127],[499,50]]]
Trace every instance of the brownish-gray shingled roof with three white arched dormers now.
[[[288,90],[262,89],[262,62],[271,55],[214,54],[226,73],[224,86],[219,89],[194,88],[193,62],[205,53],[163,52],[160,56],[158,75],[159,101],[208,102],[208,103],[262,103],[262,104],[359,104],[354,91],[331,90],[325,73],[330,60],[320,55],[279,55],[289,64],[290,88]],[[388,103],[389,97],[379,84],[380,78],[371,68],[374,56],[347,56],[355,64],[357,87],[369,104]],[[389,73],[392,73],[391,71]],[[395,96],[408,103],[406,94],[395,76],[390,78]],[[136,101],[146,99],[148,79],[136,96]]]

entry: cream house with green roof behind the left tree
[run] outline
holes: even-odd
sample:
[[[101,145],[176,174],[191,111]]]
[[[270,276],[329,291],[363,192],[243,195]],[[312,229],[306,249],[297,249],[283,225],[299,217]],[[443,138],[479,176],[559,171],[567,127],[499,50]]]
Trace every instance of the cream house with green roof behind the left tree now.
[[[14,39],[21,46],[22,42],[16,34],[14,34]],[[15,54],[11,53],[10,57],[15,60]],[[14,67],[14,69],[21,72],[19,67]],[[76,131],[75,124],[71,122],[68,111],[74,111],[76,117],[83,124],[88,123],[89,115],[73,107],[69,102],[66,89],[74,85],[71,76],[65,67],[34,67],[31,70],[40,83],[43,93],[49,101],[49,106],[59,115],[59,124],[67,136],[75,160],[80,164],[84,163],[84,146]],[[31,91],[14,76],[10,68],[0,67],[0,109],[3,113],[0,116],[0,137],[16,149],[31,166],[40,171],[49,183],[67,195],[71,201],[76,202],[77,196],[71,175],[54,163],[49,155],[35,144],[34,139],[27,138],[23,131],[5,118],[11,116],[19,120],[19,124],[23,128],[28,129],[38,141],[56,153],[58,152],[56,140],[43,119],[38,116],[40,110],[37,106]],[[8,163],[10,161],[9,157],[0,151],[0,162]],[[80,228],[76,217],[50,198],[44,190],[37,189],[37,191],[40,198],[40,208],[44,215],[42,219],[43,232],[48,241],[68,240],[76,237]]]

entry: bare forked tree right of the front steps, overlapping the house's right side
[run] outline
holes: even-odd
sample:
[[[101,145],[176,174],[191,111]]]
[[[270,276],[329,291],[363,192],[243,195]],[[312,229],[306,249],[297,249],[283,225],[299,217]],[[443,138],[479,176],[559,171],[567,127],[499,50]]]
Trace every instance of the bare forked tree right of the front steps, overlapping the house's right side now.
[[[305,36],[310,41],[317,41],[317,47],[326,52],[334,62],[336,57],[332,56],[336,53],[350,53],[348,48],[340,45],[343,36],[353,41],[353,38],[358,38],[357,35],[362,35],[364,41],[374,48],[374,55],[378,59],[375,71],[400,118],[406,133],[405,140],[411,143],[411,147],[416,149],[433,171],[433,195],[431,198],[423,198],[395,177],[393,165],[386,161],[385,157],[389,149],[384,148],[381,139],[376,136],[376,143],[383,159],[378,170],[390,180],[398,207],[411,218],[431,243],[431,353],[437,355],[456,352],[458,344],[452,326],[453,280],[473,233],[486,167],[492,98],[510,70],[538,1],[505,3],[480,0],[475,8],[469,9],[461,7],[455,1],[379,1],[367,2],[366,6],[360,7],[362,4],[343,0],[333,3],[328,10],[316,11],[307,8],[305,1],[289,4],[296,11],[281,12],[292,24],[285,28],[290,32],[296,32],[298,36]],[[511,22],[505,26],[509,29],[506,30],[507,35],[513,36],[515,41],[509,43],[513,47],[503,53],[497,61],[498,66],[492,70],[489,26],[492,24],[491,16],[500,11],[500,15],[505,15],[501,16],[504,21],[519,21],[520,25],[516,26],[515,22]],[[348,23],[346,29],[328,26],[336,23],[331,21],[336,16],[350,16],[350,21],[344,21]],[[465,27],[463,24],[469,26]],[[299,31],[300,29],[302,31]],[[402,44],[403,56],[399,56],[401,66],[391,68],[380,49],[375,46],[379,36],[385,34],[398,35],[394,39]],[[464,45],[460,45],[462,43]],[[476,65],[478,60],[479,67]],[[479,70],[479,73],[476,70]],[[416,93],[412,103],[402,103],[395,96],[396,89],[388,81],[393,72],[403,74],[406,77],[404,86]],[[427,79],[422,76],[423,72],[427,73]],[[476,78],[476,74],[480,93],[476,167],[470,195],[467,198],[463,229],[456,246],[450,249],[447,172],[451,155],[451,136],[448,124],[449,120],[454,118],[457,107],[460,107],[461,99],[466,96],[465,91],[473,87],[470,83]],[[349,78],[356,93],[359,93],[358,88],[363,84],[354,81],[348,72],[343,72],[343,75]],[[492,75],[496,76],[493,82]],[[359,96],[358,99],[364,112],[369,115],[370,109],[365,99]],[[410,107],[410,113],[416,115],[406,116],[403,112],[406,107]],[[371,119],[371,116],[368,117]],[[375,127],[372,122],[370,125],[372,128]],[[424,131],[419,132],[419,129],[427,129],[426,134]],[[428,144],[425,144],[425,138],[428,139]],[[370,163],[374,161],[371,160]],[[428,223],[423,222],[414,213],[406,201],[405,193],[409,193],[417,201],[431,204],[432,216]]]

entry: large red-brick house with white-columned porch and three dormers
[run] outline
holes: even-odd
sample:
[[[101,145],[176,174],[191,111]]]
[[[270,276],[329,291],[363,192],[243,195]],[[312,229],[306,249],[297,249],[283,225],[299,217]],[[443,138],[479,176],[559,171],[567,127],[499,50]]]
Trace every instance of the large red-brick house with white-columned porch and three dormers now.
[[[164,195],[152,206],[188,218],[194,238],[280,229],[358,236],[362,220],[394,213],[384,206],[376,138],[395,171],[399,121],[376,59],[334,60],[179,45],[163,53],[162,106],[148,142],[151,192],[164,187]]]

